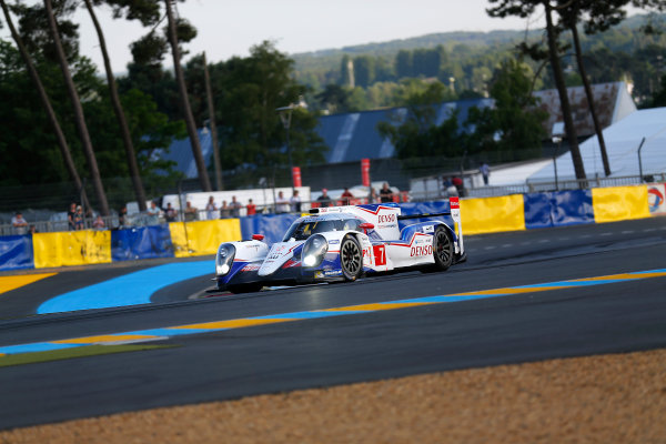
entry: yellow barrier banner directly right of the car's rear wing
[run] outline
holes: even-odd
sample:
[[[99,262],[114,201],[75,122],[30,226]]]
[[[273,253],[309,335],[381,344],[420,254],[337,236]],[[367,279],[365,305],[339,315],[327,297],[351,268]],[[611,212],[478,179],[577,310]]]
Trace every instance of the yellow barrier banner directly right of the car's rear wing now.
[[[461,200],[463,234],[525,230],[522,194]]]

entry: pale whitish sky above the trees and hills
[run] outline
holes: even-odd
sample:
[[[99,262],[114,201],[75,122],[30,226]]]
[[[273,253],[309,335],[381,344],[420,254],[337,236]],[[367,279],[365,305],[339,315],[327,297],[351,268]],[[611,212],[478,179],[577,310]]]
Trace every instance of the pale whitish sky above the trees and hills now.
[[[294,54],[435,32],[525,28],[523,19],[490,18],[488,4],[487,0],[188,0],[178,10],[199,31],[185,46],[190,56],[205,51],[209,62],[218,62],[246,57],[264,40]],[[97,11],[113,71],[124,72],[131,61],[129,44],[147,30],[138,22],[112,20],[109,8]],[[81,53],[101,69],[90,17],[83,9],[74,20],[80,24]]]

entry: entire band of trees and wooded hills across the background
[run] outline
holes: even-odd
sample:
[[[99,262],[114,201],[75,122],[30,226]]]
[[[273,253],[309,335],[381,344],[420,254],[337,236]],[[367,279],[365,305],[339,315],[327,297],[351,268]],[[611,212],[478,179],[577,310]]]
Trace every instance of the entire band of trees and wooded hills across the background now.
[[[290,153],[294,164],[323,162],[326,147],[315,131],[319,113],[376,107],[406,105],[412,110],[413,121],[406,123],[416,124],[401,128],[393,122],[382,130],[401,157],[526,147],[543,137],[534,119],[525,114],[533,105],[532,90],[552,84],[562,92],[572,82],[615,81],[620,72],[627,72],[623,63],[632,64],[638,52],[629,57],[591,42],[595,34],[627,40],[626,31],[616,26],[624,20],[623,8],[629,2],[490,0],[488,13],[494,17],[528,17],[543,10],[549,17],[548,26],[541,38],[531,38],[518,48],[404,49],[393,62],[350,56],[340,64],[337,81],[315,88],[303,81],[294,60],[272,42],[256,44],[249,57],[220,62],[210,63],[204,54],[188,54],[186,43],[196,37],[196,30],[178,13],[174,0],[43,0],[32,6],[0,0],[2,22],[11,32],[11,41],[0,41],[0,99],[4,103],[0,108],[4,160],[0,185],[71,181],[80,192],[85,183],[92,183],[94,195],[84,198],[92,199],[92,205],[104,214],[109,211],[104,190],[109,178],[131,178],[131,192],[140,205],[162,184],[179,179],[172,164],[152,155],[175,138],[192,141],[200,188],[212,189],[213,170],[216,188],[223,188],[222,176],[213,168],[218,162],[203,163],[196,128],[216,130],[219,162],[225,173],[252,176],[261,168],[287,165]],[[657,0],[633,3],[655,10],[664,7]],[[115,19],[138,20],[145,29],[131,44],[127,74],[118,78],[105,50],[108,30],[95,16],[102,6],[111,8]],[[85,8],[94,23],[104,60],[103,79],[79,53],[78,24],[72,21],[77,8]],[[653,57],[663,48],[663,37],[645,36],[640,67],[646,78],[653,78],[646,98],[660,103],[665,84],[659,85]],[[186,62],[183,54],[190,57]],[[467,64],[461,62],[474,60],[475,54],[484,56]],[[165,69],[165,63],[172,63],[173,70]],[[576,68],[568,69],[568,64]],[[601,68],[604,65],[607,69]],[[639,78],[640,73],[633,75]],[[353,88],[341,80],[344,78],[347,83],[353,79]],[[503,91],[513,92],[506,95]],[[451,119],[443,128],[433,127],[425,105],[486,95],[495,99],[496,109],[473,111],[463,132]],[[303,99],[307,108],[296,105]],[[293,105],[289,132],[278,112],[285,105]],[[567,134],[573,137],[569,123]]]

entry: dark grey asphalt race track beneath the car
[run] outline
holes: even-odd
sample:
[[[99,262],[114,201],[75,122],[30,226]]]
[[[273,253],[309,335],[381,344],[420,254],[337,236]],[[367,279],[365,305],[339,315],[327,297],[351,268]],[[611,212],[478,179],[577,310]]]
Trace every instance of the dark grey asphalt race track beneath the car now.
[[[61,272],[0,295],[0,346],[666,269],[666,219],[470,236],[446,273],[206,292],[34,315],[67,291],[157,265]],[[199,297],[199,299],[190,299]],[[0,369],[0,428],[454,369],[666,346],[666,278],[181,335],[171,349]]]

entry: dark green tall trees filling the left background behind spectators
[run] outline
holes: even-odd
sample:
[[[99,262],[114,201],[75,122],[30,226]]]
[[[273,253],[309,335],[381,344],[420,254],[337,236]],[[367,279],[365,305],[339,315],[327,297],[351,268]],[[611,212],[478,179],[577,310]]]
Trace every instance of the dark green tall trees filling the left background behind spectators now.
[[[179,16],[173,0],[1,0],[0,7],[0,23],[11,33],[11,41],[0,41],[0,185],[71,181],[73,195],[109,214],[105,185],[111,178],[131,178],[128,191],[143,209],[148,195],[181,176],[173,164],[155,160],[154,150],[188,137],[200,189],[210,191],[196,129],[215,121],[221,123],[225,169],[286,163],[286,134],[275,110],[297,103],[305,88],[292,78],[293,61],[273,43],[255,46],[248,58],[208,64],[199,54],[183,64],[186,42],[196,30]],[[111,71],[104,40],[109,30],[97,20],[100,7],[145,28],[131,44],[127,75],[117,78]],[[78,23],[72,21],[77,8],[85,8],[94,24],[104,79],[79,53]],[[173,70],[163,68],[169,62]],[[212,87],[214,107],[205,105],[206,87]],[[323,161],[325,147],[315,125],[313,113],[294,110],[290,145],[297,164]],[[85,195],[85,184],[92,184],[93,195]]]

